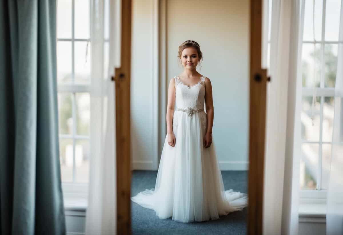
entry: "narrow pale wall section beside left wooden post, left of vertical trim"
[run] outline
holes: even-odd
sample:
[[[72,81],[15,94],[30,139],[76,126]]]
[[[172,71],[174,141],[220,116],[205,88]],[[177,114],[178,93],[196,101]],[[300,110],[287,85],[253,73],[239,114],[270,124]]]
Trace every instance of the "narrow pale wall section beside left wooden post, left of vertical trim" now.
[[[153,1],[132,1],[131,156],[133,169],[154,169]]]

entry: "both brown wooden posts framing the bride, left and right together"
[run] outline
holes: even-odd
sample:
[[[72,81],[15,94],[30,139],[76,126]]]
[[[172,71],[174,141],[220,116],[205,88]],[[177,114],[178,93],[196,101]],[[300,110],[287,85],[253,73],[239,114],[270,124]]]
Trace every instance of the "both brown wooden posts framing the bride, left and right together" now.
[[[131,0],[121,0],[121,67],[116,68],[117,234],[131,234]],[[261,69],[262,0],[250,0],[248,234],[262,234],[267,71]]]

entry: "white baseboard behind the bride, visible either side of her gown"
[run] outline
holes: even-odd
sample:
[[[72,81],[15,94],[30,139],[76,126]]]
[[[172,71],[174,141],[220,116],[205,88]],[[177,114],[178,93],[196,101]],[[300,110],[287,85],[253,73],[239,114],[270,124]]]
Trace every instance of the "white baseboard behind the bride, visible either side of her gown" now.
[[[248,161],[219,161],[219,168],[222,171],[247,171],[249,169]],[[156,171],[153,161],[133,161],[132,170],[150,170]]]

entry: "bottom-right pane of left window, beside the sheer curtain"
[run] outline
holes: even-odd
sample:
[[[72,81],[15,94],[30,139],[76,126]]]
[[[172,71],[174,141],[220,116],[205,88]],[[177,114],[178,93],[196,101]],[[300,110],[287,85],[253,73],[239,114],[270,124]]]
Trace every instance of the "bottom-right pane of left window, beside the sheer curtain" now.
[[[76,182],[88,183],[89,178],[89,140],[77,139],[75,144]]]

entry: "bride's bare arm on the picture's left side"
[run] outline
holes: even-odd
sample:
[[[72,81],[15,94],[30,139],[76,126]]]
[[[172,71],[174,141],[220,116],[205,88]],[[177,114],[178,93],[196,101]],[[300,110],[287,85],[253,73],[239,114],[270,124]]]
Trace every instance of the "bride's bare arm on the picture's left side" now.
[[[170,146],[175,147],[175,136],[173,132],[173,115],[175,106],[175,79],[171,78],[168,88],[168,104],[167,104],[167,139]]]

